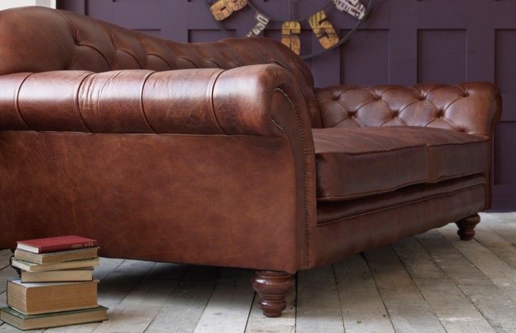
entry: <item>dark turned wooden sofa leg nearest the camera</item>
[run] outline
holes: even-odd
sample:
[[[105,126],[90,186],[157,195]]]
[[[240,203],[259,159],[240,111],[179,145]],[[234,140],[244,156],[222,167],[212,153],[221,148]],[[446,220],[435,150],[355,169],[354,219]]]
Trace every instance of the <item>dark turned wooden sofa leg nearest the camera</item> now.
[[[255,271],[252,288],[260,297],[259,305],[267,317],[279,317],[286,308],[286,295],[296,282],[292,274],[279,271]]]

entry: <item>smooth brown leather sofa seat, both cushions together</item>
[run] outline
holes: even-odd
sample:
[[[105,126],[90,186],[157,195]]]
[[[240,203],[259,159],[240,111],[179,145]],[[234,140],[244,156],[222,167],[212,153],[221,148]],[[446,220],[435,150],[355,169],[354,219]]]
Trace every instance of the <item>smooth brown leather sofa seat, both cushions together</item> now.
[[[318,201],[341,201],[487,171],[484,137],[441,128],[313,129]]]

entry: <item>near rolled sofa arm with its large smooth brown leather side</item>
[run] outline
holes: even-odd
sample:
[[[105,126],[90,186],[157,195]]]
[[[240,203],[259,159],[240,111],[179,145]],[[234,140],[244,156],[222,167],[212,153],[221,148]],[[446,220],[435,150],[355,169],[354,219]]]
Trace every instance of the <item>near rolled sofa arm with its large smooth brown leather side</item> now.
[[[304,266],[315,152],[285,69],[18,73],[0,91],[1,247],[79,234],[103,256]]]

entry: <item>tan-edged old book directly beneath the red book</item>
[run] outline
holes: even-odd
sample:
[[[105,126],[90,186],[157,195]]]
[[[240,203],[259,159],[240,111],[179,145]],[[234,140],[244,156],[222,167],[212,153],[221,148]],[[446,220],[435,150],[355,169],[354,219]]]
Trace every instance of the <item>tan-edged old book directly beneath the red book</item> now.
[[[23,249],[16,249],[14,251],[14,258],[35,264],[54,264],[62,261],[90,259],[96,258],[98,255],[99,247],[85,247],[84,249],[48,253],[34,253]]]

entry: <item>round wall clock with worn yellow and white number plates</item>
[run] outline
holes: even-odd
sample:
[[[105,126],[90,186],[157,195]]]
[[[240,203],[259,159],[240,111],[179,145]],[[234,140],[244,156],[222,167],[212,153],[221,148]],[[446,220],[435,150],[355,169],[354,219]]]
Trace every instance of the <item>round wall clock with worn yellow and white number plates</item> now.
[[[249,30],[247,37],[255,37],[262,34],[262,31],[267,27],[272,20],[267,13],[262,13],[252,4],[252,0],[205,0],[208,5],[211,15],[215,19],[220,30],[225,32],[222,22],[232,16],[237,15],[242,9],[252,9],[255,11],[254,27]],[[369,0],[367,8],[361,4],[360,0],[330,0],[327,1],[326,6],[320,11],[317,11],[307,18],[302,18],[297,21],[281,21],[281,43],[288,46],[300,55],[301,40],[299,34],[301,33],[301,22],[307,21],[315,36],[318,38],[321,50],[319,52],[311,53],[310,55],[301,55],[303,59],[310,59],[318,55],[323,55],[326,52],[335,49],[342,45],[349,36],[356,31],[362,22],[364,22],[369,9],[371,8],[372,0]],[[285,2],[286,6],[291,6],[291,1]],[[348,13],[357,19],[357,24],[344,37],[339,38],[337,31],[333,28],[332,23],[326,16],[326,10],[337,9],[343,13]],[[290,8],[289,8],[290,10]]]

